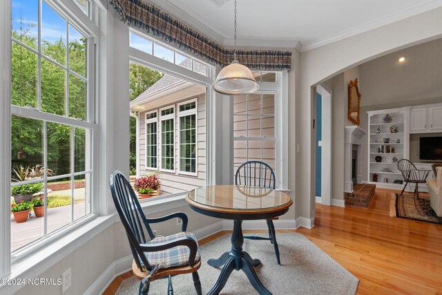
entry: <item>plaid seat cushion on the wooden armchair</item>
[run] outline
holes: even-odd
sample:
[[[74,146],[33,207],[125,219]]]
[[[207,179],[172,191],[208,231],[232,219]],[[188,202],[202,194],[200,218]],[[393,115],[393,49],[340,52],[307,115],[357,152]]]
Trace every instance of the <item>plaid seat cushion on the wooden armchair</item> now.
[[[194,234],[182,231],[178,234],[173,234],[171,236],[158,236],[154,238],[148,244],[158,244],[160,242],[169,242],[171,240],[176,240],[177,238],[189,237],[193,238],[196,242],[198,242],[197,238]],[[168,267],[176,267],[182,265],[189,265],[189,254],[191,251],[186,246],[177,246],[171,249],[166,249],[162,251],[155,252],[144,252],[148,262],[151,265],[157,265],[158,268],[168,268]],[[200,247],[198,247],[198,251],[196,252],[195,262],[200,260]]]

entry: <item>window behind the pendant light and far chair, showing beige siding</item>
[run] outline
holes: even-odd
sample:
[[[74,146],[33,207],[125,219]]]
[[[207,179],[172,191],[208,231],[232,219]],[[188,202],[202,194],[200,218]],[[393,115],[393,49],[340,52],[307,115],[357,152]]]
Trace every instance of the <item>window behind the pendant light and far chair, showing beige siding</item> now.
[[[238,167],[247,161],[258,160],[275,172],[276,187],[287,185],[287,157],[284,134],[287,120],[282,93],[287,74],[253,72],[260,82],[260,91],[233,97],[233,182]],[[280,118],[280,120],[276,120]]]

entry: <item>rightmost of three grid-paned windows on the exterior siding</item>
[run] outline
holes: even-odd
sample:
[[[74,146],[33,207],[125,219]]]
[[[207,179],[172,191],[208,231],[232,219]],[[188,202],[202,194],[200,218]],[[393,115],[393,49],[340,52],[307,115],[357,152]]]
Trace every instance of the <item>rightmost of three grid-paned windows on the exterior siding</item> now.
[[[178,106],[180,120],[180,172],[196,173],[196,100]]]

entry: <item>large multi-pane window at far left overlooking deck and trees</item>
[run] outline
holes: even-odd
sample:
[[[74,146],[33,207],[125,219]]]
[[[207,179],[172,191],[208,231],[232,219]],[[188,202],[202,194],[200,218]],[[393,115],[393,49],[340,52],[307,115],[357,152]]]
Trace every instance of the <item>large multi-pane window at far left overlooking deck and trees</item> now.
[[[11,202],[44,208],[11,218],[12,251],[92,212],[92,30],[50,3],[12,0]]]

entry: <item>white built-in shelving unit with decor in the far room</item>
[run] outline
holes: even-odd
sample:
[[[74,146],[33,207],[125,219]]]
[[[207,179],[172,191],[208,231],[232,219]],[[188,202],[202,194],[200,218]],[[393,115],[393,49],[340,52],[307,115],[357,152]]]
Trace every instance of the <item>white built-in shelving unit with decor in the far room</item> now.
[[[398,170],[397,161],[408,159],[410,141],[410,126],[408,117],[410,112],[405,108],[390,108],[378,111],[368,111],[368,183],[377,187],[402,189],[403,184],[395,184],[394,180],[403,180]],[[391,122],[385,122],[384,117],[390,115]],[[392,132],[397,126],[398,132]],[[378,131],[380,129],[380,132]],[[397,142],[397,140],[399,142]],[[381,162],[375,158],[380,156]],[[374,174],[378,176],[374,182]],[[386,181],[386,182],[385,182]]]

